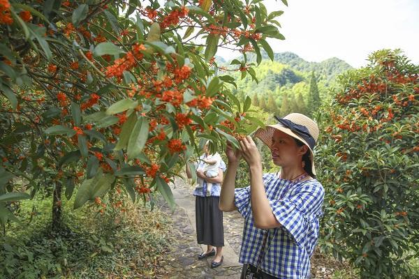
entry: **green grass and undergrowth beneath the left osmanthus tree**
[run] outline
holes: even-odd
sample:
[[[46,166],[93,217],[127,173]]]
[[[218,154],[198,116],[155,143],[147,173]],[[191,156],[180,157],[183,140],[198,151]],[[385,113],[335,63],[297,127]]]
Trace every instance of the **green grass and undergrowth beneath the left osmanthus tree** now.
[[[0,238],[0,278],[144,278],[170,248],[170,223],[159,209],[128,203],[128,213],[102,216],[63,201],[64,225],[51,232],[51,200],[40,195],[20,204],[22,223]]]

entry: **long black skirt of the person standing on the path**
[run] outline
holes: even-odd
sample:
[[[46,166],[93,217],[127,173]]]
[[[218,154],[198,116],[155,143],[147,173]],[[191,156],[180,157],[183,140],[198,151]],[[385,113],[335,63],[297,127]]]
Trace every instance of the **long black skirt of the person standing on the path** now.
[[[198,244],[224,246],[223,211],[219,210],[220,197],[196,196],[196,238]]]

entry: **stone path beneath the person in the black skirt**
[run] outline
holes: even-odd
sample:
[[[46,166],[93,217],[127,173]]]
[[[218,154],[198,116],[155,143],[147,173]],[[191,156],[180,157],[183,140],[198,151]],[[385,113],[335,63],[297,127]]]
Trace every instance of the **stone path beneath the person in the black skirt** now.
[[[243,219],[235,211],[224,213],[223,264],[211,268],[214,257],[198,260],[197,255],[206,250],[196,242],[195,197],[193,188],[186,181],[177,179],[171,187],[177,207],[171,211],[164,204],[161,209],[169,213],[173,222],[171,238],[172,251],[163,264],[165,271],[159,278],[240,278],[242,265],[239,263],[239,252]],[[160,273],[160,272],[159,272]]]

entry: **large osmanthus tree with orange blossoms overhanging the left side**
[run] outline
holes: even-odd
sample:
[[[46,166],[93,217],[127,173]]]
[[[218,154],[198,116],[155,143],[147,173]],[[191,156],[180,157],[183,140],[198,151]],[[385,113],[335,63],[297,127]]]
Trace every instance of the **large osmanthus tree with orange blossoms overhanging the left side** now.
[[[226,89],[217,49],[240,50],[235,70],[255,77],[246,53],[273,59],[265,39],[284,39],[281,13],[262,1],[0,0],[1,225],[10,202],[43,188],[53,227],[75,189],[75,208],[124,210],[156,190],[172,205],[174,167],[259,123]]]

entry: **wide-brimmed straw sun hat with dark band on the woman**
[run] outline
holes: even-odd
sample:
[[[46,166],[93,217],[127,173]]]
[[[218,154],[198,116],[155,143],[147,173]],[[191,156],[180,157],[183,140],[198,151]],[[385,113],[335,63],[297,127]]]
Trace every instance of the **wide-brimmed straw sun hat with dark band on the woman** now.
[[[311,172],[316,175],[313,149],[318,139],[317,123],[304,114],[299,113],[288,114],[284,118],[279,118],[278,116],[274,117],[277,119],[278,123],[267,125],[265,128],[259,128],[256,131],[255,136],[262,140],[270,149],[272,149],[272,137],[274,136],[275,130],[280,130],[281,132],[300,140],[309,147]]]

